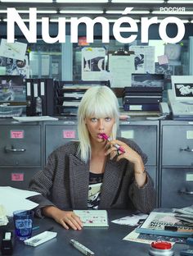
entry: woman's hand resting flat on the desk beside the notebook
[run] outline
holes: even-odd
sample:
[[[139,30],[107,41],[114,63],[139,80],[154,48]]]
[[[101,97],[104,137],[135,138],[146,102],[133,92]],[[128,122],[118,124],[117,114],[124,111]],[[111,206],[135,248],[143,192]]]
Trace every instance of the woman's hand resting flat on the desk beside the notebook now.
[[[43,214],[48,217],[52,217],[67,230],[70,227],[74,229],[74,231],[80,231],[83,228],[83,223],[81,222],[79,216],[72,211],[62,211],[54,206],[47,206],[43,208]]]

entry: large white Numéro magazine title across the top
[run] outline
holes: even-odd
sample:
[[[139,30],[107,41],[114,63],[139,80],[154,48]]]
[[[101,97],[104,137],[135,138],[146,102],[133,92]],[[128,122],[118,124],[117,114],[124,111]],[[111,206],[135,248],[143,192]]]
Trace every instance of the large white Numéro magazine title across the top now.
[[[118,20],[114,22],[113,34],[114,38],[120,43],[132,43],[137,39],[138,26],[137,22],[128,15],[133,8],[127,7],[123,11],[122,15]],[[65,17],[58,18],[58,34],[56,37],[51,37],[49,34],[49,18],[42,17],[42,39],[45,43],[65,43]],[[110,23],[105,17],[96,17],[91,19],[87,16],[80,18],[71,17],[70,18],[70,41],[71,43],[78,43],[78,29],[79,24],[86,25],[86,36],[87,42],[93,43],[93,29],[96,23],[101,24],[102,28],[102,43],[110,42]],[[158,18],[151,17],[141,17],[141,43],[148,43],[149,40],[149,27],[152,24],[157,24]],[[177,25],[177,34],[175,37],[170,38],[166,32],[167,26],[171,23]],[[25,39],[29,43],[37,42],[37,8],[29,8],[29,28],[25,25],[25,22],[20,17],[16,8],[7,8],[7,43],[14,43],[15,41],[15,25],[18,25],[21,32],[25,35]],[[123,26],[128,24],[128,26]],[[123,37],[121,33],[129,33],[128,37]],[[134,34],[133,34],[134,33]],[[173,16],[168,16],[164,18],[159,24],[159,36],[164,41],[164,43],[177,43],[182,40],[185,34],[185,26],[183,22]]]

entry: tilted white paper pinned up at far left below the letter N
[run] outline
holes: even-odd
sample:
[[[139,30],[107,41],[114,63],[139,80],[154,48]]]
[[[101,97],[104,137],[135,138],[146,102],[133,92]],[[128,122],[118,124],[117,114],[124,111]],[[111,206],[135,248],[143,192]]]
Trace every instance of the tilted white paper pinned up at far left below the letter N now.
[[[0,45],[0,56],[10,57],[16,60],[24,61],[27,43],[7,43],[6,39],[2,39]]]

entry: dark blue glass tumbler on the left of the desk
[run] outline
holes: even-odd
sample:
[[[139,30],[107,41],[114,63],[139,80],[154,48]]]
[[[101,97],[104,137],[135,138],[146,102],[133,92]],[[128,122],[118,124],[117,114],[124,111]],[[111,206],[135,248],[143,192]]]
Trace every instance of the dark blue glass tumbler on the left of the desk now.
[[[34,212],[20,210],[13,212],[16,236],[19,240],[29,239],[32,235]]]

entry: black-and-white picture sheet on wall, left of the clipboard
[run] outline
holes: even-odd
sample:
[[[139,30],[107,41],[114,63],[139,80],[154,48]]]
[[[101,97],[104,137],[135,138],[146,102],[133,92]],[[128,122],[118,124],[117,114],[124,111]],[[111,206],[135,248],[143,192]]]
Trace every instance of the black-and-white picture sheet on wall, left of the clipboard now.
[[[82,80],[104,80],[105,48],[82,49]]]

